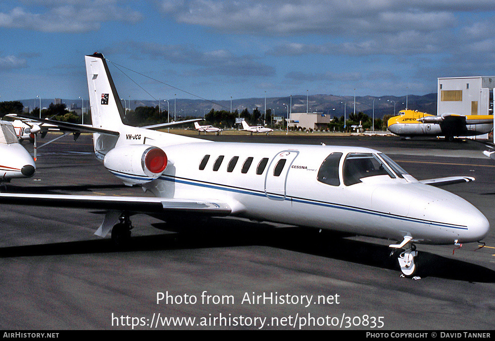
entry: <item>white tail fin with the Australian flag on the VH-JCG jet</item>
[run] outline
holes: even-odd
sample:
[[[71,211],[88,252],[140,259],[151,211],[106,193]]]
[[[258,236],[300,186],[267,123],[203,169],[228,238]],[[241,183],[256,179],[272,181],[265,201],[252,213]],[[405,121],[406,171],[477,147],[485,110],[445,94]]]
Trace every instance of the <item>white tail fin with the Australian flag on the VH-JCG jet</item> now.
[[[101,53],[85,56],[86,76],[91,105],[93,127],[121,132],[124,127],[124,109],[117,94],[108,65]],[[93,134],[93,144],[97,157],[112,149],[118,137]]]

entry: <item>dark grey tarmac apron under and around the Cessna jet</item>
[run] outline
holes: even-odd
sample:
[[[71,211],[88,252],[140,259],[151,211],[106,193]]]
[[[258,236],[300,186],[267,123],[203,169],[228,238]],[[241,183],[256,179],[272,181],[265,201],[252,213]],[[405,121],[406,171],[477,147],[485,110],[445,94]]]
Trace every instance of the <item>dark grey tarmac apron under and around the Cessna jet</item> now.
[[[191,224],[174,233],[162,230],[160,220],[136,215],[133,243],[122,251],[109,237],[93,235],[101,212],[4,205],[1,328],[494,329],[495,163],[483,155],[483,144],[314,134],[198,137],[367,146],[387,153],[419,180],[473,176],[474,182],[444,189],[478,207],[492,229],[483,248],[478,243],[456,250],[453,245],[418,245],[425,271],[412,280],[400,277],[384,240],[235,218]],[[24,146],[32,150],[32,145]],[[40,148],[34,177],[13,180],[6,191],[149,195],[122,186],[108,173],[85,134],[76,142],[67,137]]]

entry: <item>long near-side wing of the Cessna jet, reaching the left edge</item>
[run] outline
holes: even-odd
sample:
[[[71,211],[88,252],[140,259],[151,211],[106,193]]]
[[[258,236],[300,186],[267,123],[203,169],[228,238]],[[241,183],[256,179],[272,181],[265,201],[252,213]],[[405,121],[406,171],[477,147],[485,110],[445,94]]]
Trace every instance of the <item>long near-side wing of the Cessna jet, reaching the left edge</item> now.
[[[177,199],[140,196],[100,196],[100,195],[43,195],[0,193],[0,203],[120,210],[134,213],[191,212],[210,216],[226,216],[231,207],[218,200]]]

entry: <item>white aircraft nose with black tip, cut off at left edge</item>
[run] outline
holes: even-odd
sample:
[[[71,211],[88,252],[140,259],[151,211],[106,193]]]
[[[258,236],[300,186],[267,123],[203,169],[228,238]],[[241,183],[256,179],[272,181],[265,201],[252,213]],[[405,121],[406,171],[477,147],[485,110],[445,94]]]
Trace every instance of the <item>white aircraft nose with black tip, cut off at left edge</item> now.
[[[19,144],[10,122],[0,121],[0,183],[33,176],[36,165],[28,151]]]

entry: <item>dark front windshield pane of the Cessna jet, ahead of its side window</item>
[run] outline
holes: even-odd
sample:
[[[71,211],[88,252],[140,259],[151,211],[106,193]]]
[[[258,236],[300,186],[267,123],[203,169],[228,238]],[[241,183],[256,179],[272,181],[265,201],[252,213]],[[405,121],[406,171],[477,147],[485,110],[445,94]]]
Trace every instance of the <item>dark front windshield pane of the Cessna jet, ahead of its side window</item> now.
[[[395,175],[385,166],[385,164],[372,153],[349,153],[344,160],[344,185],[351,186],[358,184],[363,178],[388,175],[395,178]]]

